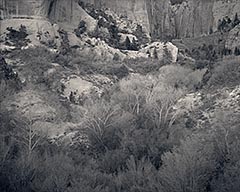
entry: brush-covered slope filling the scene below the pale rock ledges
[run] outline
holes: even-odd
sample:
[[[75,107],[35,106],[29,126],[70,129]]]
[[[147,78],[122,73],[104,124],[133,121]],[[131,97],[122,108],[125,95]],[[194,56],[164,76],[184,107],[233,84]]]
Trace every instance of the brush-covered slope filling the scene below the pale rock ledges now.
[[[82,22],[75,33],[85,30]],[[43,47],[6,53],[16,66],[0,58],[0,191],[239,190],[237,55],[223,60],[202,44],[189,53],[196,63],[103,62],[76,54],[61,35],[57,53]],[[76,102],[72,92],[61,97],[61,80],[71,75],[113,83]],[[51,138],[49,127],[64,133]]]

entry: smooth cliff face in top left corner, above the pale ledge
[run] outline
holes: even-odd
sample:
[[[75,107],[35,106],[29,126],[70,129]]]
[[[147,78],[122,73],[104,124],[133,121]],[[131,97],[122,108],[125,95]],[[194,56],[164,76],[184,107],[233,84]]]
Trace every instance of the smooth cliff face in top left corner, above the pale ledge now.
[[[1,0],[1,19],[50,19],[64,25],[64,28],[77,28],[80,20],[86,20],[88,28],[96,23],[75,0]]]

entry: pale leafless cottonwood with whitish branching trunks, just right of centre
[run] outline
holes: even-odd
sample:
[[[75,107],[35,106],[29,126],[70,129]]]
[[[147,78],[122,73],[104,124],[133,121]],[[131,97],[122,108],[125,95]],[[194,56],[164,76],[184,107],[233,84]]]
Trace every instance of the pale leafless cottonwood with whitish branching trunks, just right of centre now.
[[[120,82],[119,97],[129,112],[145,114],[154,128],[166,130],[175,122],[178,114],[173,110],[184,90],[168,86],[158,78],[133,76]]]

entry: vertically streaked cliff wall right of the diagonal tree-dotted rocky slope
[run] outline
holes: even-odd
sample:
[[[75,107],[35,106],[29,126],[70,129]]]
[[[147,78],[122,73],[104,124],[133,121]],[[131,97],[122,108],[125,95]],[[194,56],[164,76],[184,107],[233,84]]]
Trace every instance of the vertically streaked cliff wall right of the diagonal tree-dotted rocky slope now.
[[[141,24],[160,39],[198,37],[216,31],[218,20],[236,13],[239,0],[186,0],[171,5],[170,0],[82,0],[97,8],[110,8]]]

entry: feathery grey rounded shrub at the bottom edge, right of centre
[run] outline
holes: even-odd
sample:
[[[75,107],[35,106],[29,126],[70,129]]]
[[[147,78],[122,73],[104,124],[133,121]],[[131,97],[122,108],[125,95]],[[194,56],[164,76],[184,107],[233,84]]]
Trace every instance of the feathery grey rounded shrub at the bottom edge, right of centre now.
[[[201,137],[193,136],[182,142],[179,148],[163,155],[160,180],[163,191],[183,192],[207,190],[215,170],[213,143],[204,143]]]

